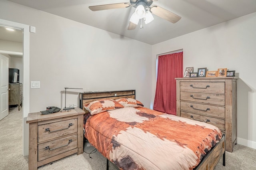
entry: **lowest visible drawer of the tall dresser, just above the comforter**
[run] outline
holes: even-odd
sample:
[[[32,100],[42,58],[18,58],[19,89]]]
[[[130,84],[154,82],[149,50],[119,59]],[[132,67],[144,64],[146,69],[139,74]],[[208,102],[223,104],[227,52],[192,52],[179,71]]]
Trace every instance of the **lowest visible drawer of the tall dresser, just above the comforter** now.
[[[214,117],[199,115],[196,113],[189,113],[189,112],[185,112],[185,111],[180,111],[180,117],[185,117],[185,118],[196,120],[196,121],[206,122],[206,123],[209,123],[211,125],[218,127],[222,131],[225,131],[225,120],[224,119],[218,119],[218,118],[214,118]]]

